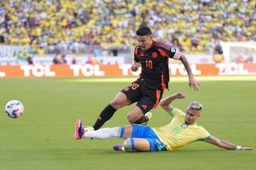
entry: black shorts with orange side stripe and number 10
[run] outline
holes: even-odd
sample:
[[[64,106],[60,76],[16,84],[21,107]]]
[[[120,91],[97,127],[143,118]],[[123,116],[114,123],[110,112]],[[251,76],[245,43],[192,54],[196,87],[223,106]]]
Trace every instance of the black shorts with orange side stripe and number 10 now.
[[[143,114],[146,114],[151,109],[157,107],[164,90],[148,88],[141,81],[140,79],[134,81],[132,85],[124,88],[121,92],[123,92],[132,103],[138,102],[136,106],[142,110]]]

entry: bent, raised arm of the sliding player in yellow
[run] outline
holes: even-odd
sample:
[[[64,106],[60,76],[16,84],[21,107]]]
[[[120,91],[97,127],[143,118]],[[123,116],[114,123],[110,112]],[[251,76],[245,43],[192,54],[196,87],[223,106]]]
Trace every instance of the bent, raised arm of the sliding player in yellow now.
[[[169,111],[172,108],[171,102],[175,99],[183,99],[186,97],[186,94],[179,92],[176,94],[172,94],[171,96],[165,97],[160,101],[160,106],[169,114]]]

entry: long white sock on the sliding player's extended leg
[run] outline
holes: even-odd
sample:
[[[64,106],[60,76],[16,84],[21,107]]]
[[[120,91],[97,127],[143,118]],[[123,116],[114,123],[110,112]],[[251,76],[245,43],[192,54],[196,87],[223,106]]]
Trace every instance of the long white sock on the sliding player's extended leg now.
[[[97,131],[87,131],[84,133],[83,138],[107,139],[119,138],[121,127],[103,128]]]

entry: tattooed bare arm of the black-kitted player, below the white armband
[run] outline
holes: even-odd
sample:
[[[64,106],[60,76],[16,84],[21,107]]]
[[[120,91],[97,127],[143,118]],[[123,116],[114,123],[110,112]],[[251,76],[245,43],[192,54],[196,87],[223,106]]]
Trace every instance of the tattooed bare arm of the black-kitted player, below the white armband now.
[[[191,89],[191,86],[192,86],[195,91],[200,90],[199,86],[202,87],[202,85],[200,83],[198,83],[198,81],[194,78],[191,67],[190,67],[190,64],[187,60],[187,57],[184,56],[184,54],[181,54],[179,60],[183,63],[184,67],[187,70],[187,75],[188,75],[188,78],[189,78],[188,85],[189,85],[190,89]]]

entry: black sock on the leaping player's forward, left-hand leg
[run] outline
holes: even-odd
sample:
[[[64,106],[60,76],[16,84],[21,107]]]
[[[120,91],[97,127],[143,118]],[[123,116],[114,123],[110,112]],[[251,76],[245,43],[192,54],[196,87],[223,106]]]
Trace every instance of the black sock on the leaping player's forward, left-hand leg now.
[[[103,124],[114,115],[115,111],[116,109],[108,104],[108,106],[102,110],[97,121],[93,125],[94,131],[97,131],[99,128],[101,128],[101,126],[103,126]]]

